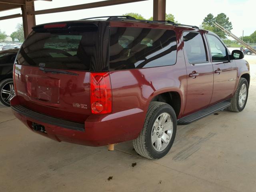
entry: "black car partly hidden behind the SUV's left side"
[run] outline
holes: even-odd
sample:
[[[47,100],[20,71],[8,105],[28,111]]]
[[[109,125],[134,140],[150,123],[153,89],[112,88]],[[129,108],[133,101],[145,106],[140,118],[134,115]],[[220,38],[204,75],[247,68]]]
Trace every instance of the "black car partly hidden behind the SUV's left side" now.
[[[12,71],[18,50],[0,51],[0,104],[5,106],[10,106],[10,98],[14,96]]]

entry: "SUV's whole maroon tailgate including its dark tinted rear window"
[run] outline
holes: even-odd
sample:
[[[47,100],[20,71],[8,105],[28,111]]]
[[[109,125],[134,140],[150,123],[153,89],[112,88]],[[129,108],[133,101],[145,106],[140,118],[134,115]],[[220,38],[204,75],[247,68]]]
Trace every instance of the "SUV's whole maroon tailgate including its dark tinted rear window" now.
[[[65,22],[33,28],[15,64],[20,104],[74,122],[91,114],[90,72],[108,71],[108,22]]]

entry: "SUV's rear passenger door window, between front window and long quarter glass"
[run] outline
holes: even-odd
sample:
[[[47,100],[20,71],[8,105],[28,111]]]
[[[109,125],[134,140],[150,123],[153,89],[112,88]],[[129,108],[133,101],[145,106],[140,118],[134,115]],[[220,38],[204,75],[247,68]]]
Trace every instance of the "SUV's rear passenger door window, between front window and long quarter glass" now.
[[[184,32],[184,49],[191,64],[207,62],[202,35],[197,32]]]

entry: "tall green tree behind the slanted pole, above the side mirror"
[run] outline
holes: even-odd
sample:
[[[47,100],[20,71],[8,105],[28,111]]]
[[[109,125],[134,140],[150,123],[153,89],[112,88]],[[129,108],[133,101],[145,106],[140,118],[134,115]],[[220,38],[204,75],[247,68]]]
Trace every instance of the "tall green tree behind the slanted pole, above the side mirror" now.
[[[204,21],[202,22],[202,28],[204,30],[209,30],[214,33],[216,33],[220,38],[226,39],[226,34],[217,28],[214,25],[214,22],[217,22],[227,30],[232,30],[232,23],[229,21],[229,18],[226,16],[224,13],[218,14],[216,17],[213,17],[213,14],[208,14],[205,18]]]

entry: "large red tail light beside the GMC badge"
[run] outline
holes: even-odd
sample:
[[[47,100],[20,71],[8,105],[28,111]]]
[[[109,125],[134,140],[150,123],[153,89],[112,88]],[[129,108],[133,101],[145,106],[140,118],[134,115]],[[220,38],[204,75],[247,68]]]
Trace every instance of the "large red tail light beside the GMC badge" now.
[[[93,114],[112,112],[112,90],[109,72],[90,73],[90,97]]]

